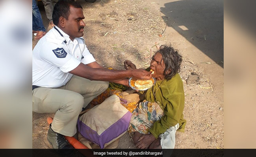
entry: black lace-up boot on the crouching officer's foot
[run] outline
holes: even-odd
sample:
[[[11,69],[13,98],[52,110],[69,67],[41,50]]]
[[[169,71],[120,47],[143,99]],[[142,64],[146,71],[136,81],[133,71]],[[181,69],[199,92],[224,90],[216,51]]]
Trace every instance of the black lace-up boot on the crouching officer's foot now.
[[[47,133],[47,140],[52,144],[52,148],[55,149],[60,154],[68,154],[71,153],[74,149],[71,144],[65,139],[64,135],[61,135],[60,133],[56,133],[52,130],[50,124],[50,128]]]

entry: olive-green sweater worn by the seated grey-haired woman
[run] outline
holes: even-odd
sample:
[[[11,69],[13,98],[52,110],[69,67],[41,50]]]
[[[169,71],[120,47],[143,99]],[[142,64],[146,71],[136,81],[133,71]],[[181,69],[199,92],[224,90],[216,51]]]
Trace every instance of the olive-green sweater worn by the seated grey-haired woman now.
[[[160,88],[158,89],[159,86]],[[155,100],[153,90],[156,91],[156,89],[158,90]],[[158,80],[152,88],[147,90],[145,97],[147,101],[157,102],[164,111],[163,117],[154,122],[154,125],[149,130],[156,139],[168,128],[178,123],[180,127],[177,131],[185,131],[186,120],[183,119],[185,95],[183,82],[178,73],[171,80]]]

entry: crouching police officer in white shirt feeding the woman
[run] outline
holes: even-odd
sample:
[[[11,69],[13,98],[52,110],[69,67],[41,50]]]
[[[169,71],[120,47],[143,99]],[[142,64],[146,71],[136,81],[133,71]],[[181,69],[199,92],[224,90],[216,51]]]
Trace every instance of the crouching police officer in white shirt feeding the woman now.
[[[83,10],[74,1],[59,1],[54,26],[33,49],[33,111],[56,113],[47,139],[55,149],[72,148],[64,136],[76,133],[82,108],[108,88],[108,82],[128,85],[127,77],[150,79],[143,69],[102,68],[84,44]]]

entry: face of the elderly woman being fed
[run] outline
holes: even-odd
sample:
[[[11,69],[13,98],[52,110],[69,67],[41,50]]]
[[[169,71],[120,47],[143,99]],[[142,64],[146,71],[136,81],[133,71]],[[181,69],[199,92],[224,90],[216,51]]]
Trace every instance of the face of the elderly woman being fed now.
[[[155,73],[152,75],[152,77],[156,78],[157,80],[163,80],[164,79],[164,69],[165,64],[162,60],[161,53],[156,53],[154,57],[152,58],[150,62],[150,68],[155,71]]]

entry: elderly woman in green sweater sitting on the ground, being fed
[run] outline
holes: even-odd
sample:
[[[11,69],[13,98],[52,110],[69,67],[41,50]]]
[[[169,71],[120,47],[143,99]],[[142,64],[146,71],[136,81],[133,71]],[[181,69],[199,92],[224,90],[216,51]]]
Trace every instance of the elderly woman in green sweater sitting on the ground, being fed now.
[[[156,84],[145,93],[145,100],[132,112],[129,132],[134,132],[137,148],[169,148],[175,145],[175,133],[184,132],[184,89],[178,72],[181,55],[171,46],[162,45],[150,62]],[[129,60],[126,69],[136,66]],[[141,91],[143,93],[143,91]]]

